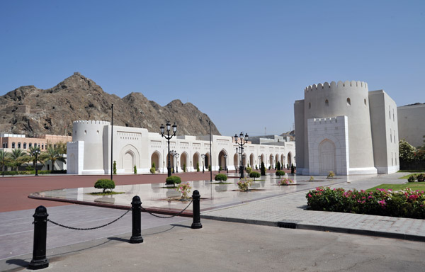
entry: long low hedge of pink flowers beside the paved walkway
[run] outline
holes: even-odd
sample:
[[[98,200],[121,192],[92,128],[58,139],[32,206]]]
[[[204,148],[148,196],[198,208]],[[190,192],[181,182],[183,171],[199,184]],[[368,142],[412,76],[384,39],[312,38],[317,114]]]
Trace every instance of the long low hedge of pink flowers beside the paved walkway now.
[[[409,188],[397,192],[385,189],[366,192],[317,187],[309,191],[306,198],[310,210],[425,219],[424,191]]]

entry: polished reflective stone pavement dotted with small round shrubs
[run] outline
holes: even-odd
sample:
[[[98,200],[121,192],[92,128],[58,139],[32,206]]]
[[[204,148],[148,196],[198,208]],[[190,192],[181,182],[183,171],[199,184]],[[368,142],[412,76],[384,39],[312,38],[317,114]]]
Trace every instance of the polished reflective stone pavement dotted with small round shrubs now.
[[[230,175],[229,175],[230,176]],[[288,193],[305,191],[317,186],[331,186],[365,179],[367,176],[343,176],[335,179],[327,179],[326,176],[316,176],[314,182],[308,181],[310,176],[286,175],[292,179],[291,186],[278,186],[280,178],[274,175],[262,176],[251,186],[251,191],[242,192],[237,187],[237,178],[227,179],[229,184],[218,184],[213,181],[189,181],[192,191],[198,190],[201,197],[201,211],[212,210],[247,203],[254,200],[261,200],[275,196],[283,196]],[[133,196],[140,196],[144,208],[161,212],[179,212],[183,210],[189,202],[176,200],[181,195],[174,188],[167,188],[165,183],[133,184],[116,186],[114,191],[124,192],[112,196],[93,196],[89,193],[99,192],[96,188],[65,188],[61,190],[44,191],[31,194],[32,198],[45,200],[60,200],[69,203],[79,203],[83,205],[98,205],[108,208],[129,208]],[[188,207],[191,212],[192,206]]]

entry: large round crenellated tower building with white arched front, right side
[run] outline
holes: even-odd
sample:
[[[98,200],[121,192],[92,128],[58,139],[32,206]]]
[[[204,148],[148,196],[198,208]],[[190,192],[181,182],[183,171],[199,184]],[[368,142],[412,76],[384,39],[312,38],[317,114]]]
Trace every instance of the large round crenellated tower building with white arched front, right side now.
[[[314,84],[295,101],[297,174],[399,170],[397,105],[361,81]]]

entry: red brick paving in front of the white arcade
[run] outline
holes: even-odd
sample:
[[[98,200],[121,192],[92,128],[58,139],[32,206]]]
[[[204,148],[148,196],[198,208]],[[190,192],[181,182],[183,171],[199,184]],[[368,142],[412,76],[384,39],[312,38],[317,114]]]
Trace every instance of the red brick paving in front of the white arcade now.
[[[269,171],[270,172],[270,171]],[[212,179],[218,172],[212,173]],[[223,172],[222,172],[223,173]],[[234,171],[229,172],[230,176],[237,176]],[[181,177],[181,181],[202,181],[210,180],[210,172],[192,172],[174,174]],[[0,212],[10,212],[13,210],[35,209],[39,205],[45,207],[55,207],[70,205],[56,201],[35,200],[28,198],[30,193],[57,190],[62,188],[92,187],[98,179],[109,179],[110,175],[99,176],[0,176]],[[143,174],[143,175],[116,175],[113,180],[116,185],[145,184],[165,182],[166,174]]]

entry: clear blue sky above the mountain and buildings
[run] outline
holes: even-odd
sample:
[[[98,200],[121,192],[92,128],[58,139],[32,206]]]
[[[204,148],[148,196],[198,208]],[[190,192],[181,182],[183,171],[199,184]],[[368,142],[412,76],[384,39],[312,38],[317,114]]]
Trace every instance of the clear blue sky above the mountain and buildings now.
[[[425,1],[0,1],[0,95],[73,72],[280,134],[306,86],[360,80],[425,102]],[[172,121],[172,117],[170,118]]]

